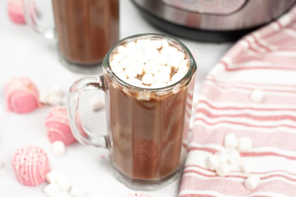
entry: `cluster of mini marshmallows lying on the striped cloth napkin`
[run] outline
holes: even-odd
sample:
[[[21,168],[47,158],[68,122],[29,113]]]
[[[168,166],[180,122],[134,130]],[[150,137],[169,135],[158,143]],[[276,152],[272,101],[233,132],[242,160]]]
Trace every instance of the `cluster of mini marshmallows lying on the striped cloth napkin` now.
[[[240,153],[251,149],[253,143],[249,137],[236,138],[234,133],[228,133],[224,137],[224,147],[228,151],[218,151],[206,160],[207,168],[215,170],[217,175],[226,176],[230,173],[231,168],[239,166],[243,173],[249,174],[244,182],[246,188],[250,190],[256,189],[259,184],[260,177],[256,174],[250,174],[253,170],[253,163],[240,162]]]

